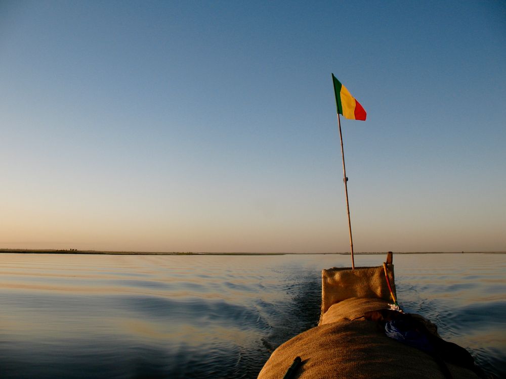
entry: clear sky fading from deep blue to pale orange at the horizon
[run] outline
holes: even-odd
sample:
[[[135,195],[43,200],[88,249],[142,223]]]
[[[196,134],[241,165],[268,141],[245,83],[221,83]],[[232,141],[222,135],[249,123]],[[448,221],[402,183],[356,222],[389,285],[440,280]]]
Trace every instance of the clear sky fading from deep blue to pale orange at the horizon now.
[[[506,2],[0,1],[0,248],[506,251]]]

